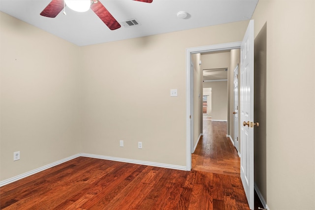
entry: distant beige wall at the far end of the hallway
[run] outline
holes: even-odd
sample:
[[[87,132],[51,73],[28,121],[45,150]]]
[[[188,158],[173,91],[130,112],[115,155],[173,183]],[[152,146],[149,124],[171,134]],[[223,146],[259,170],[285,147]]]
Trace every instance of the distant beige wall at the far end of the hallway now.
[[[204,82],[204,88],[211,88],[212,120],[227,120],[227,81]]]

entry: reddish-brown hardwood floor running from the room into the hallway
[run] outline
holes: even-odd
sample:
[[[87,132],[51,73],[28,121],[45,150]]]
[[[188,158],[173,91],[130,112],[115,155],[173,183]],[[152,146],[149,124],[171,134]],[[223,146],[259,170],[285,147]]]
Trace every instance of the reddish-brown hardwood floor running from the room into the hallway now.
[[[2,186],[0,209],[249,210],[226,122],[210,123],[190,172],[78,157]]]

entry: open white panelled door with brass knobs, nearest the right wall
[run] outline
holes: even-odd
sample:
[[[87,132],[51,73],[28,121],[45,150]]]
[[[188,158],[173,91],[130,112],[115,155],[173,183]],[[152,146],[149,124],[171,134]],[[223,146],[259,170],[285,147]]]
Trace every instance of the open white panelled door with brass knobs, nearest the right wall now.
[[[250,21],[241,45],[240,118],[241,179],[250,209],[254,209],[254,22]]]

